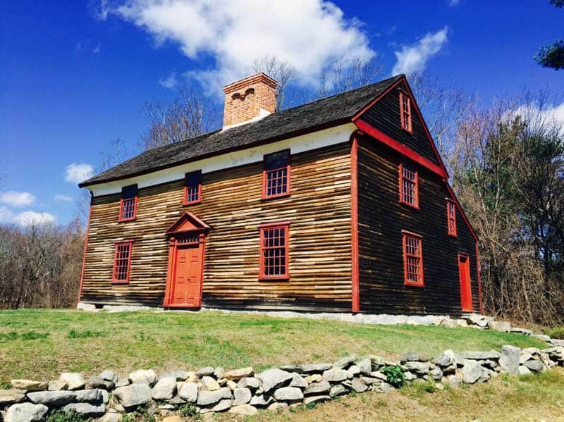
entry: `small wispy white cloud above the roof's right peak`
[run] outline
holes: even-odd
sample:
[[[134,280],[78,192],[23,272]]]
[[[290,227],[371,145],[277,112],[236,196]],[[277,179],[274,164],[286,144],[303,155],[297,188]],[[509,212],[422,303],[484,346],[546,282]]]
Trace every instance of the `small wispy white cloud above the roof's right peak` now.
[[[428,32],[419,42],[410,46],[403,46],[401,51],[396,51],[397,62],[392,74],[413,73],[423,70],[429,58],[439,53],[447,42],[448,27],[431,34]]]

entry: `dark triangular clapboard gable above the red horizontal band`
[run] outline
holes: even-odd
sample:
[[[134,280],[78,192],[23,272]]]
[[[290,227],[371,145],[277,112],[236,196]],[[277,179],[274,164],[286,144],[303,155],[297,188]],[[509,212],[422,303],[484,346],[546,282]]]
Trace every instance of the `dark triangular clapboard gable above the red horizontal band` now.
[[[374,106],[365,111],[362,114],[362,120],[396,139],[396,141],[410,147],[417,154],[424,156],[433,163],[439,164],[439,160],[437,160],[427,133],[424,130],[423,122],[415,111],[415,99],[412,99],[411,105],[412,133],[401,128],[398,88],[407,89],[405,82],[400,82],[398,87],[391,89]]]

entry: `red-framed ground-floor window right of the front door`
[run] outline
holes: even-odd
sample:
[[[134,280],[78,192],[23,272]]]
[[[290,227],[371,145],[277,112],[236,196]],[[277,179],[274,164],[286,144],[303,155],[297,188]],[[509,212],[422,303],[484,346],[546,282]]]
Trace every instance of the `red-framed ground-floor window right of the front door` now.
[[[290,222],[262,224],[259,225],[259,230],[259,280],[289,280],[288,239],[290,237]],[[278,261],[276,261],[277,259]]]

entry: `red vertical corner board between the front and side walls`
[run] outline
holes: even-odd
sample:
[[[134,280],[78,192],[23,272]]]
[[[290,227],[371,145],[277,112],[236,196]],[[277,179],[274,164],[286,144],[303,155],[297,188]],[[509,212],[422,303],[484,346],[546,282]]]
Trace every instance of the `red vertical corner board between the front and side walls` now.
[[[353,135],[350,147],[350,244],[352,265],[351,310],[360,312],[360,276],[358,261],[358,141]]]

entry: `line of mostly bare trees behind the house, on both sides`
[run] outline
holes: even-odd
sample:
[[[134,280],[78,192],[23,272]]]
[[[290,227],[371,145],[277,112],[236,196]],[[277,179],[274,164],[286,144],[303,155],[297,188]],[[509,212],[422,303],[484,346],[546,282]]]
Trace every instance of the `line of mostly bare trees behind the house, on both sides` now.
[[[281,82],[278,109],[381,78],[374,61],[340,62],[317,76],[312,94],[295,85],[295,70],[274,57],[262,58],[250,71]],[[483,108],[477,95],[442,87],[427,73],[409,80],[479,237],[486,312],[525,323],[564,323],[564,128],[554,108],[562,97],[522,92]],[[147,103],[145,116],[142,151],[221,125],[217,104],[188,86],[169,104]],[[98,170],[125,156],[117,139]],[[65,227],[0,228],[0,307],[75,304],[89,204],[85,192],[76,221]]]

